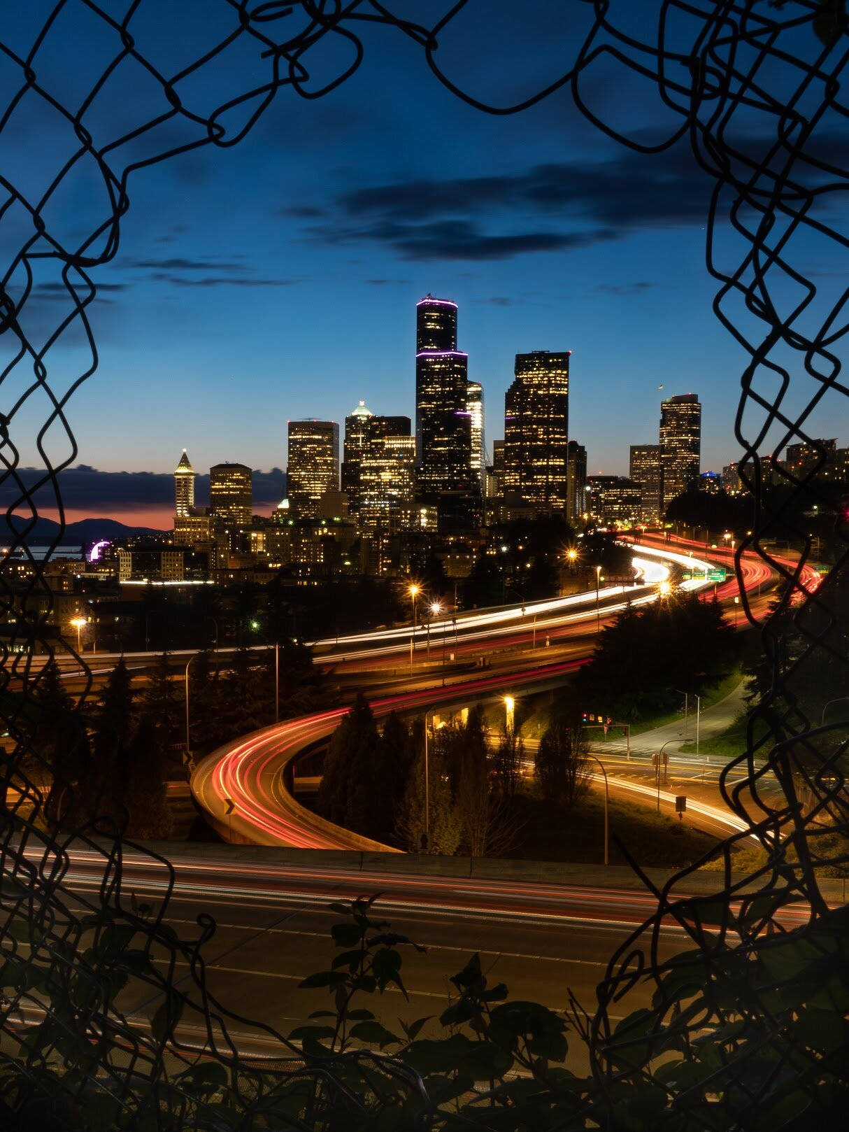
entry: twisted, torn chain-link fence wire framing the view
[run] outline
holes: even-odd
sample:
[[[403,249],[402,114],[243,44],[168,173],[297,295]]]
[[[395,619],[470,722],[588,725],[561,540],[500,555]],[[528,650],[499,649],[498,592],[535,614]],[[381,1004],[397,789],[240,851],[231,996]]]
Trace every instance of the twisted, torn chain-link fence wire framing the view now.
[[[49,1096],[52,1104],[71,1112],[75,1105],[91,1104],[96,1094],[113,1106],[115,1126],[129,1126],[142,1114],[153,1126],[165,1126],[160,1123],[161,1113],[169,1106],[181,1127],[200,1126],[206,1118],[206,1095],[192,1089],[190,1081],[175,1083],[174,1078],[174,1065],[194,1070],[198,1064],[197,1049],[180,1029],[180,1018],[191,1015],[198,1020],[205,1055],[225,1067],[226,1096],[241,1106],[246,1118],[273,1112],[282,1083],[291,1087],[319,1080],[348,1106],[352,1121],[363,1118],[361,1099],[343,1082],[333,1061],[305,1060],[281,1035],[268,1031],[280,1046],[280,1067],[260,1071],[246,1062],[233,1030],[245,1020],[216,1002],[205,981],[203,947],[214,925],[199,919],[197,938],[188,941],[169,928],[173,868],[144,847],[127,842],[126,815],[110,804],[108,775],[94,787],[86,783],[93,800],[87,797],[83,806],[79,766],[86,758],[92,681],[82,658],[77,659],[85,687],[76,729],[66,735],[65,773],[62,766],[45,765],[36,753],[48,670],[43,659],[58,649],[74,650],[52,621],[53,599],[44,577],[50,554],[35,559],[29,544],[35,523],[46,509],[59,516],[51,552],[65,530],[60,477],[77,457],[68,404],[97,368],[88,308],[96,294],[94,275],[119,248],[121,221],[130,207],[130,174],[204,146],[235,145],[283,89],[307,100],[326,95],[362,65],[361,35],[367,24],[394,26],[417,43],[435,78],[482,111],[515,113],[568,89],[589,121],[635,152],[657,153],[686,139],[705,182],[712,185],[705,221],[706,266],[718,282],[713,309],[748,357],[735,436],[743,452],[740,475],[753,497],[753,524],[752,534],[736,551],[737,573],[740,576],[740,555],[752,550],[781,575],[784,586],[761,629],[770,686],[752,712],[746,752],[726,767],[721,779],[726,801],[746,818],[749,831],[722,847],[722,871],[713,898],[689,897],[692,871],[684,871],[658,891],[657,912],[611,959],[599,988],[598,1010],[586,1023],[602,1097],[593,1104],[593,1114],[609,1118],[624,1083],[652,1081],[651,1056],[663,1040],[693,1049],[700,1034],[732,1020],[744,1020],[747,1032],[756,1035],[758,1050],[771,1046],[779,1066],[740,1087],[739,1126],[747,1126],[751,1114],[770,1096],[777,1074],[795,1064],[794,1058],[811,1057],[807,1047],[788,1032],[763,986],[746,985],[732,1006],[729,986],[732,976],[739,976],[741,957],[748,960],[761,954],[788,934],[782,919],[787,904],[809,909],[807,938],[812,946],[821,945],[822,926],[832,914],[817,871],[824,865],[847,865],[846,841],[841,840],[847,833],[846,727],[816,726],[797,692],[812,667],[826,661],[843,669],[847,664],[847,650],[841,646],[843,567],[849,552],[846,521],[835,514],[831,567],[814,588],[806,580],[813,540],[794,517],[794,503],[803,497],[808,504],[820,499],[825,508],[832,506],[832,497],[823,492],[816,468],[797,474],[771,465],[772,474],[788,489],[775,497],[766,490],[761,461],[765,444],[774,452],[789,443],[817,447],[818,438],[809,426],[812,413],[847,393],[841,380],[847,291],[829,298],[825,288],[814,283],[797,247],[800,234],[814,234],[832,249],[847,245],[830,211],[835,195],[846,190],[846,162],[837,146],[826,153],[830,131],[844,127],[847,118],[841,101],[849,48],[844,6],[839,0],[657,0],[645,5],[652,20],[643,20],[644,33],[637,36],[624,26],[621,6],[594,0],[589,6],[591,29],[567,45],[574,54],[560,76],[521,103],[495,106],[462,89],[440,68],[440,38],[468,5],[469,0],[458,0],[428,27],[400,17],[377,0],[220,0],[216,16],[223,11],[230,20],[225,31],[214,43],[198,48],[195,58],[174,74],[164,74],[137,43],[135,33],[149,8],[147,0],[122,5],[60,0],[40,23],[33,23],[23,45],[0,32],[2,74],[12,76],[11,93],[0,114],[0,142],[19,130],[27,114],[36,127],[42,114],[67,143],[65,154],[59,146],[51,148],[54,165],[48,172],[25,169],[17,179],[8,170],[0,172],[5,195],[0,235],[7,241],[0,273],[0,381],[8,405],[0,415],[0,482],[12,496],[6,511],[10,550],[0,566],[0,712],[11,747],[5,749],[0,763],[6,800],[0,814],[6,993],[0,1007],[0,1098],[5,1103],[11,1104],[14,1097],[20,1106],[22,1098]],[[75,20],[74,26],[92,44],[96,28],[101,44],[96,74],[80,75],[84,89],[75,97],[62,95],[57,76],[40,66],[51,35],[59,34],[67,19]],[[198,26],[198,42],[208,34]],[[335,76],[314,86],[311,58],[328,38],[344,40],[353,54]],[[188,89],[188,80],[201,72],[215,76],[228,52],[238,49],[254,53],[255,77],[248,88],[223,98],[212,111],[195,105],[181,87]],[[70,58],[67,68],[72,75],[75,63],[84,69],[79,59]],[[599,68],[650,84],[675,122],[662,138],[634,137],[593,109],[591,80]],[[134,118],[135,106],[126,106],[126,122],[102,136],[97,110],[128,69],[135,69],[139,86],[144,80],[156,92],[158,106],[147,115],[139,111],[139,119]],[[57,220],[55,204],[84,169],[96,174],[102,213],[83,235],[70,235]],[[728,251],[729,232],[738,240],[736,258]],[[66,306],[53,328],[40,336],[31,328],[29,315],[45,289],[61,295]],[[71,380],[62,383],[52,376],[51,366],[57,345],[69,333],[85,343],[88,360]],[[35,426],[31,417],[37,420]],[[22,477],[22,452],[28,448],[41,461],[34,483]],[[821,456],[824,461],[824,451]],[[787,537],[788,526],[804,547],[795,565],[778,556],[772,544],[777,532]],[[24,583],[11,568],[18,554],[32,571]],[[754,624],[745,595],[744,609]],[[731,787],[730,777],[740,769],[745,778]],[[762,790],[769,774],[783,792],[778,803]],[[97,816],[84,820],[84,811]],[[751,837],[763,848],[764,864],[741,880],[734,874],[734,850]],[[155,911],[127,899],[126,847],[162,866]],[[71,891],[69,884],[74,855],[82,851],[101,863],[96,899]],[[677,972],[677,994],[664,989],[670,967],[660,954],[661,929],[670,920],[693,941],[692,955],[683,961],[691,966],[683,976]],[[177,967],[183,963],[189,976],[178,978]],[[155,1026],[139,1026],[138,1018],[121,1010],[112,979],[121,988],[131,984],[148,988],[151,1001],[161,1003]],[[697,1012],[688,1013],[693,987],[700,980],[707,989]],[[660,992],[653,1013],[648,1021],[641,1018],[638,1027],[629,1023],[616,1029],[610,1006],[646,981]],[[19,1040],[23,1046],[10,1052]],[[74,1044],[89,1052],[87,1072],[49,1072],[70,1065]],[[752,1046],[729,1039],[710,1079],[715,1091],[727,1089],[730,1080],[745,1082],[752,1056]],[[374,1070],[369,1055],[357,1057],[363,1080],[368,1079]],[[415,1074],[401,1065],[387,1069],[389,1064],[381,1060],[380,1072],[396,1074],[398,1088],[421,1092]],[[688,1096],[675,1081],[664,1092],[674,1104]],[[702,1126],[714,1126],[713,1118],[706,1113]],[[303,1125],[293,1122],[291,1126]]]

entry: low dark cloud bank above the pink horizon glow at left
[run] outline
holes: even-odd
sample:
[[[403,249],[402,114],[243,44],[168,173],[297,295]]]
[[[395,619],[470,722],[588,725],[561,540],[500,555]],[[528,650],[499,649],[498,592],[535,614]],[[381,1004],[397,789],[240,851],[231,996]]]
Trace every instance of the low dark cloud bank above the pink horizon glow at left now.
[[[177,464],[177,457],[174,464]],[[32,489],[43,472],[24,468],[18,475],[27,489]],[[283,497],[284,475],[278,468],[269,472],[254,472],[254,506],[275,507]],[[168,472],[101,472],[88,464],[66,468],[59,474],[62,503],[69,511],[83,511],[93,517],[109,517],[117,508],[121,511],[146,507],[172,507],[174,503],[174,478]],[[49,499],[48,499],[49,496]],[[209,477],[198,475],[195,480],[195,497],[198,506],[209,501]],[[17,498],[15,483],[7,479],[0,484],[0,507],[7,508]],[[54,506],[50,484],[38,492],[38,505]]]

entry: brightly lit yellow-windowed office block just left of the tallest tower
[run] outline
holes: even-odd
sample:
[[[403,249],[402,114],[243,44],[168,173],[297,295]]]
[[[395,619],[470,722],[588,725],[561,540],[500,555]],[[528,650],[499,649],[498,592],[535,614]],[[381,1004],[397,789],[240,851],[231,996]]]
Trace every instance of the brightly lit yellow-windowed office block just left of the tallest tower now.
[[[360,530],[397,531],[402,515],[412,506],[414,492],[415,438],[372,437],[360,464]]]

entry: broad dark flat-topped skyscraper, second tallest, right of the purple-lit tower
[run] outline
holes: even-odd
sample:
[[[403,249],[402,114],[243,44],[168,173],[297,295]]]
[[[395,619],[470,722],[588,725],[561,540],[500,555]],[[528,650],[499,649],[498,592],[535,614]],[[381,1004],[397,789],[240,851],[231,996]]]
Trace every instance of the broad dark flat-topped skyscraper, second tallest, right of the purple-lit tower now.
[[[516,354],[504,398],[504,490],[538,512],[566,509],[569,354]]]

